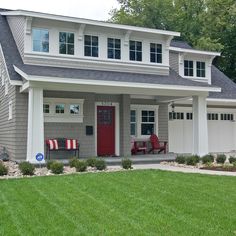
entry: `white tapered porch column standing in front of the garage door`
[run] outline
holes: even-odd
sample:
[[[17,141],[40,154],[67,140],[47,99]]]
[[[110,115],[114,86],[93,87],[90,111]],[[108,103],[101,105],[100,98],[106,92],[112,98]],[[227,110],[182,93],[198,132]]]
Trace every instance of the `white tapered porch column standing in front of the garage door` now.
[[[204,96],[193,96],[193,154],[208,154],[207,103]]]

